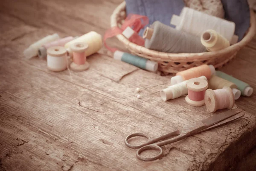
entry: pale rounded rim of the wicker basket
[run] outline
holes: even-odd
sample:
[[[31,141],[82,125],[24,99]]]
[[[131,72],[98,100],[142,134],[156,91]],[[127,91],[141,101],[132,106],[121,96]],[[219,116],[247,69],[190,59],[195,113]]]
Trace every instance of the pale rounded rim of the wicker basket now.
[[[113,11],[111,15],[111,27],[118,27],[117,17],[119,17],[119,13],[125,11],[125,1],[122,2],[116,9]],[[158,61],[177,61],[177,62],[186,62],[186,61],[200,61],[200,60],[209,60],[214,59],[216,56],[224,56],[228,53],[234,53],[234,51],[240,50],[244,47],[250,40],[253,38],[256,26],[255,26],[255,17],[254,12],[250,10],[250,28],[247,31],[247,34],[241,39],[240,42],[237,42],[234,45],[229,46],[228,48],[215,51],[215,52],[202,52],[202,53],[165,53],[156,50],[150,50],[143,46],[136,45],[130,42],[128,39],[125,38],[122,34],[118,34],[116,37],[119,39],[120,42],[128,45],[131,49],[136,51],[137,53],[146,54],[154,58],[154,60]],[[155,58],[155,56],[157,56]],[[151,58],[151,59],[152,59]]]

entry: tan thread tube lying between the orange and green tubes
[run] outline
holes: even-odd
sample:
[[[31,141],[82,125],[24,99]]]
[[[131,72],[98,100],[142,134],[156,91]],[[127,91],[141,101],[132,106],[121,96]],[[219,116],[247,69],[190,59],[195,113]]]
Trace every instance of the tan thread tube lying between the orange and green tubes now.
[[[223,87],[230,87],[233,91],[235,100],[239,99],[241,95],[241,91],[237,89],[236,84],[234,84],[233,82],[227,81],[223,78],[220,78],[218,76],[212,76],[209,79],[208,84],[209,84],[209,88],[212,90],[222,89]]]

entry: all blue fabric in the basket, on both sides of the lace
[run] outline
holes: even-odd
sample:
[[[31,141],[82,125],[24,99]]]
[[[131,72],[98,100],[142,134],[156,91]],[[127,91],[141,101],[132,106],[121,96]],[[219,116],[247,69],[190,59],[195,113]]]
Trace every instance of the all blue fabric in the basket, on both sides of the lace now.
[[[165,25],[170,25],[173,14],[180,15],[180,11],[185,6],[183,0],[125,0],[127,14],[145,15],[149,19],[149,25],[154,21],[160,21]],[[221,0],[225,10],[225,19],[235,22],[235,34],[239,36],[239,41],[243,38],[250,27],[250,10],[247,0]],[[140,36],[143,35],[143,29]]]

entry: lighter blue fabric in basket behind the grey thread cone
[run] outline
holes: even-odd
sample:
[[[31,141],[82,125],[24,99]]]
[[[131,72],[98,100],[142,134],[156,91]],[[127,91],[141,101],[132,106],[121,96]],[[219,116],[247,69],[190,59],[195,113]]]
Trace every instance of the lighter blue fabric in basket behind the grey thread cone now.
[[[149,19],[149,25],[154,21],[160,21],[165,25],[170,25],[173,14],[180,15],[180,11],[185,6],[183,0],[125,0],[126,14],[145,15]],[[148,26],[148,25],[147,25]],[[145,26],[144,28],[146,28]],[[174,27],[172,25],[172,27]],[[143,35],[143,29],[140,31]]]

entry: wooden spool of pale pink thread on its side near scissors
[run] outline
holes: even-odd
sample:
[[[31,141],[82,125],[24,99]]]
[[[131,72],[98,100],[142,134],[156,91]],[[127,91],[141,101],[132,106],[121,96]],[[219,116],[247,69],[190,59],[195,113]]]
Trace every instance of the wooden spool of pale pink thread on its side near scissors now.
[[[212,90],[208,89],[204,96],[208,112],[216,112],[218,109],[231,109],[235,104],[234,95],[230,87]]]

